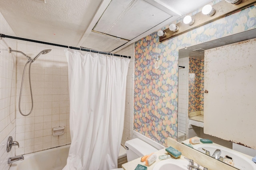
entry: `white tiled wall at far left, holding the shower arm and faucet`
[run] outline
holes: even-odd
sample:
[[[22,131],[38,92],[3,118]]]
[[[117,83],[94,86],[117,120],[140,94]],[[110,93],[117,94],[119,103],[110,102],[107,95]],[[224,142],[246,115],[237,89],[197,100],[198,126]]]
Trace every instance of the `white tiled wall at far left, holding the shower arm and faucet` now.
[[[0,13],[0,33],[15,36]],[[15,139],[15,95],[16,95],[16,55],[8,52],[8,47],[17,47],[16,41],[0,40],[0,170],[8,170],[7,160],[14,156],[15,147],[6,152],[9,136]]]

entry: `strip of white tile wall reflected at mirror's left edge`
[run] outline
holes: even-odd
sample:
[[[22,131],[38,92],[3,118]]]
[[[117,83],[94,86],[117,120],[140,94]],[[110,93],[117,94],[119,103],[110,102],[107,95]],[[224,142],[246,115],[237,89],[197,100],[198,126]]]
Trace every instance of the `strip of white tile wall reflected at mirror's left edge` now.
[[[188,72],[189,57],[179,59],[179,83],[178,83],[178,131],[188,134],[186,121],[188,119]]]

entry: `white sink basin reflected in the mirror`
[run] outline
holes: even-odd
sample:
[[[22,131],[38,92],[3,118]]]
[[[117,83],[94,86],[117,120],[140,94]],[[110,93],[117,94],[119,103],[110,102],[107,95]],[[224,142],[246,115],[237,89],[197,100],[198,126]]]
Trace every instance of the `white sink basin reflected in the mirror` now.
[[[234,151],[232,149],[221,147],[219,145],[213,145],[213,144],[196,144],[193,145],[194,149],[199,150],[200,152],[205,153],[202,148],[209,150],[210,155],[214,153],[216,149],[221,150],[220,156],[225,157],[226,155],[232,157],[232,160],[234,162],[234,167],[238,168],[240,170],[256,170],[256,164],[252,162],[252,157],[242,154],[240,152]]]

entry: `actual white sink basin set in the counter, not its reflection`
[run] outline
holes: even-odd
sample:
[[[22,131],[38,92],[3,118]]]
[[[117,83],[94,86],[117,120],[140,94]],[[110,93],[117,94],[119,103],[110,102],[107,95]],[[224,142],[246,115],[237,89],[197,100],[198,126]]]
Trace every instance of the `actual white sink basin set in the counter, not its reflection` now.
[[[187,160],[169,158],[158,162],[153,170],[188,170],[187,165]]]

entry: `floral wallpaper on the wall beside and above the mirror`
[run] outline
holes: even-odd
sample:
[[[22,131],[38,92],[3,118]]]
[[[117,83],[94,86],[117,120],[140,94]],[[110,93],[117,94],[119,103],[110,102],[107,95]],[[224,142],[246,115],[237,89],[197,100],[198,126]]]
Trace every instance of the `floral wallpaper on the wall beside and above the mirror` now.
[[[162,43],[156,32],[135,42],[134,130],[164,146],[177,139],[178,50],[255,28],[252,5]]]

